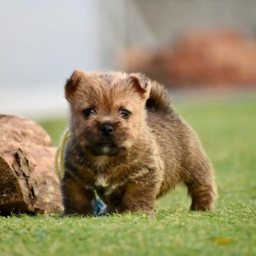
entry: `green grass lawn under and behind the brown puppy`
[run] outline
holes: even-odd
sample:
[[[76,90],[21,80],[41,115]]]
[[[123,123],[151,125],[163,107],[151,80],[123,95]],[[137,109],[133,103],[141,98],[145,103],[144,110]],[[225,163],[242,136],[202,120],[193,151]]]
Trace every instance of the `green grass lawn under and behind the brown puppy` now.
[[[256,102],[184,105],[218,183],[215,210],[190,212],[179,187],[142,214],[0,218],[0,255],[256,255]],[[56,145],[65,121],[41,122]]]

